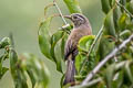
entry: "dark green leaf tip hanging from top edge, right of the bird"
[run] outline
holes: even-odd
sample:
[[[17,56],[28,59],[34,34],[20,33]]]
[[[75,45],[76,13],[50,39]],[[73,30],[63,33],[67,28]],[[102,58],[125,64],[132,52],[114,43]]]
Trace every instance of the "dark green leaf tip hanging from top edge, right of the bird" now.
[[[103,12],[108,14],[109,11],[111,10],[110,0],[101,0],[101,3]]]

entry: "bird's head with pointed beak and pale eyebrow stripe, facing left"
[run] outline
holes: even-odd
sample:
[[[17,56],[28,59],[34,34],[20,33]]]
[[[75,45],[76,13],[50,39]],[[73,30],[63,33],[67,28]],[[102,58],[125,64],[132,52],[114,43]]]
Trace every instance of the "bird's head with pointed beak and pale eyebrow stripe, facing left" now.
[[[81,13],[72,13],[71,15],[64,15],[64,18],[70,19],[75,28],[89,24],[89,20]]]

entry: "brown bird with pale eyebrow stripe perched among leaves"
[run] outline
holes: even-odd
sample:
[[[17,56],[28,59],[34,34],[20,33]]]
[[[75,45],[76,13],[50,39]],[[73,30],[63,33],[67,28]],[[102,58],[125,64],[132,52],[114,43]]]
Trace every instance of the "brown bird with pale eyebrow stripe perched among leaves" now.
[[[64,61],[66,61],[66,72],[64,75],[63,85],[75,84],[75,56],[78,55],[78,43],[81,37],[92,34],[92,28],[89,22],[89,19],[81,13],[72,13],[70,15],[64,15],[64,18],[70,19],[73,23],[73,29],[68,36],[65,46],[64,46]]]

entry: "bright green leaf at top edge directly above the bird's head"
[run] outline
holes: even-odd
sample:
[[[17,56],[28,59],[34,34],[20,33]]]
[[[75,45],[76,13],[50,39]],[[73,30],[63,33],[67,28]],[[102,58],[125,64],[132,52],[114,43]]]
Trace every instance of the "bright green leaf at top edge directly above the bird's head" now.
[[[78,0],[63,0],[70,11],[70,13],[81,13]]]

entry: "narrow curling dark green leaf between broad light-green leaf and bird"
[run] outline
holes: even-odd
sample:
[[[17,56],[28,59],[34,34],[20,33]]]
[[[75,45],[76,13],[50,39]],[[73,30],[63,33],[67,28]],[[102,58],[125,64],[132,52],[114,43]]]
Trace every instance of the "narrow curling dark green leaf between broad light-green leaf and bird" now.
[[[62,65],[61,65],[61,59],[58,59],[55,57],[55,45],[62,38],[63,36],[63,31],[58,31],[57,33],[54,33],[51,37],[51,56],[54,59],[55,64],[57,64],[57,70],[62,73]]]

